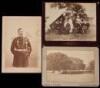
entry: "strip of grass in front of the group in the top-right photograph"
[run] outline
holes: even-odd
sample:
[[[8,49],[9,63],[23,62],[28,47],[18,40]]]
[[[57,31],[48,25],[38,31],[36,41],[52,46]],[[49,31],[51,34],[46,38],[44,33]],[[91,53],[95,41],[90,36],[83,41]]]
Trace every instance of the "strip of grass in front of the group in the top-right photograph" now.
[[[46,41],[95,41],[95,26],[90,28],[92,30],[88,34],[55,34],[55,33],[46,33]]]

